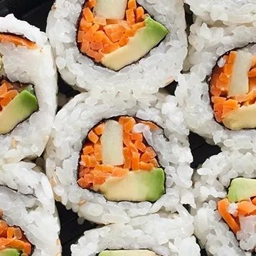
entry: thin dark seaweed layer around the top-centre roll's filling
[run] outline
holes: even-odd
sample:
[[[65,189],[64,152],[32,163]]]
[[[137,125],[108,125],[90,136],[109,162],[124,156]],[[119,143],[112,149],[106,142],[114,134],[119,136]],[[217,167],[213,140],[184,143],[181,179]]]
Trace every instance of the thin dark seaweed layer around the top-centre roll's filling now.
[[[88,0],[85,0],[85,3],[82,5],[82,11],[83,11],[83,9],[85,8],[86,1],[88,1]],[[139,5],[139,4],[137,3],[137,6],[140,7],[141,5]],[[143,6],[142,6],[142,7],[143,7]],[[144,7],[143,7],[143,9],[144,9],[144,11],[145,11],[146,14],[149,14],[149,12],[146,11],[146,9],[145,9]],[[97,62],[95,62],[95,60],[94,60],[93,58],[91,58],[90,56],[88,56],[86,53],[82,53],[82,51],[80,50],[80,43],[78,43],[78,31],[79,31],[80,22],[81,22],[81,20],[82,20],[82,11],[81,11],[80,16],[79,16],[79,18],[78,18],[78,22],[77,22],[77,31],[76,31],[76,36],[75,36],[75,42],[76,42],[76,44],[77,44],[77,47],[78,47],[79,52],[80,52],[82,55],[84,55],[85,57],[90,58],[90,60],[92,60],[92,61],[95,63],[95,65],[97,65],[97,66],[99,66],[99,67],[101,67],[101,68],[105,68],[105,69],[107,69],[107,70],[112,70],[112,69],[110,69],[110,68],[107,68],[107,67],[106,67],[105,65],[103,65],[102,63],[97,63]],[[150,16],[151,16],[151,18],[154,18],[153,15],[150,15]],[[163,38],[156,46],[154,46],[154,48],[159,47],[159,45],[161,44],[162,41],[164,41],[165,38],[166,38],[166,36],[164,36],[164,38]],[[154,48],[151,48],[151,50],[153,50]],[[149,56],[149,53],[151,52],[151,50],[149,50],[148,53],[144,54],[144,55],[142,56],[142,58],[139,58],[139,60],[142,60],[142,59],[144,59],[144,58],[147,58],[147,57]],[[128,67],[129,65],[132,65],[132,64],[137,64],[137,63],[139,63],[139,60],[136,60],[134,63],[125,65],[123,68],[126,68],[126,67]],[[120,70],[122,70],[123,68],[121,68],[121,69],[119,69],[119,70],[112,70],[112,71],[114,71],[114,73],[117,73],[117,72],[119,72]]]

